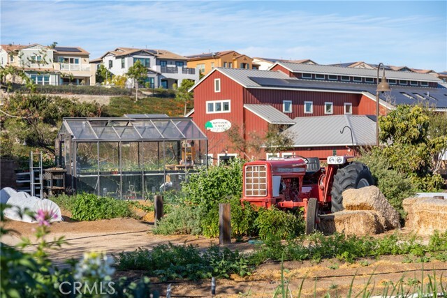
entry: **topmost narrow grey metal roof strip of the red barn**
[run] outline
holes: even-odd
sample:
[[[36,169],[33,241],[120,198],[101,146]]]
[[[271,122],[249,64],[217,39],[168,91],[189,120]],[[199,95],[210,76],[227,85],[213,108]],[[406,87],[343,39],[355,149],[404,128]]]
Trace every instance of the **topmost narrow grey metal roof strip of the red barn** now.
[[[291,62],[277,62],[278,65],[284,66],[293,73],[318,73],[325,75],[351,75],[356,77],[377,77],[376,69],[366,68],[350,68],[341,66],[315,65],[315,64],[298,64]],[[274,64],[276,65],[276,64]],[[274,67],[274,65],[272,67]],[[382,75],[382,70],[379,72]],[[441,82],[434,75],[427,73],[410,73],[406,71],[385,70],[388,79],[395,80],[413,80],[423,82]]]

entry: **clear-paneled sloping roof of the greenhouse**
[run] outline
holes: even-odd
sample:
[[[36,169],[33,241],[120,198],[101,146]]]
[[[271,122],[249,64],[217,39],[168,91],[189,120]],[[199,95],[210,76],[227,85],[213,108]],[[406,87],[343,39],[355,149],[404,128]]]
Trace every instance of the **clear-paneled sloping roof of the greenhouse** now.
[[[59,135],[75,141],[207,140],[191,118],[64,118]]]

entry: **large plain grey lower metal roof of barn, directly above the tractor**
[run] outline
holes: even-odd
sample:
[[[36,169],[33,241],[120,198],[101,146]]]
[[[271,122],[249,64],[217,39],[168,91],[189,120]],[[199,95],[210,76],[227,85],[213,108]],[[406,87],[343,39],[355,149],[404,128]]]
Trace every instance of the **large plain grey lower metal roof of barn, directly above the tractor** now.
[[[293,135],[294,147],[365,146],[376,144],[376,122],[365,115],[298,117],[284,133]],[[344,133],[340,133],[345,126]]]

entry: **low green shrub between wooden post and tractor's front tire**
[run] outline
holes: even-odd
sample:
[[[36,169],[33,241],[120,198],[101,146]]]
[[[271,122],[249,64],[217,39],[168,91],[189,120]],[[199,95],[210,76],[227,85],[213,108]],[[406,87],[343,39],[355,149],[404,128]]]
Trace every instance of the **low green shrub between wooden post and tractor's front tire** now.
[[[259,230],[261,239],[270,237],[280,237],[281,239],[291,239],[304,230],[304,221],[302,218],[292,214],[289,211],[276,208],[258,210],[258,217],[254,225]]]

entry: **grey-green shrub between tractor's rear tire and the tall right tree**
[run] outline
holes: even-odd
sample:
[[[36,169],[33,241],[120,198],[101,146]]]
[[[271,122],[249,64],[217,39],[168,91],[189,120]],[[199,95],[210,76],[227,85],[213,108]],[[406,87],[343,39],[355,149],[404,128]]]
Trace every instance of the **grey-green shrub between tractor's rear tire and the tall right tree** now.
[[[377,187],[388,202],[399,211],[401,217],[404,217],[402,201],[416,193],[411,179],[405,174],[393,170],[386,158],[379,154],[379,151],[364,152],[358,161],[369,167]]]

